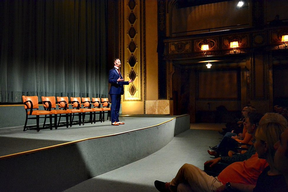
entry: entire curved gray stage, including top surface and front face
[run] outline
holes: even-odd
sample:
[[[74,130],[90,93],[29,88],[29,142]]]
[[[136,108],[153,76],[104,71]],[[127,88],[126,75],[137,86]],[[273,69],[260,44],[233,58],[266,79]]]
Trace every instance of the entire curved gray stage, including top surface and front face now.
[[[145,158],[190,128],[189,115],[130,115],[120,121],[125,125],[105,121],[40,132],[0,128],[0,188],[63,191]]]

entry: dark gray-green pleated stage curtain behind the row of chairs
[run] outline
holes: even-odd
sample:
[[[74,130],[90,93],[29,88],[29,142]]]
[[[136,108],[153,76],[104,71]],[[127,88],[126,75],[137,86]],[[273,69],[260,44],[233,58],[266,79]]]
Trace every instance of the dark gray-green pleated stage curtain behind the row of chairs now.
[[[105,0],[1,0],[0,102],[108,97]]]

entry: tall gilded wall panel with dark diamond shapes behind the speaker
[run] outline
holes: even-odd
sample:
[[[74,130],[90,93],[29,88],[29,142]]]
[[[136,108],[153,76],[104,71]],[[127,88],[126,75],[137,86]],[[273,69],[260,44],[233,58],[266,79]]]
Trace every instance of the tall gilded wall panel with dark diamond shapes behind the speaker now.
[[[143,101],[144,80],[144,35],[143,1],[119,1],[123,13],[120,32],[120,53],[123,77],[134,82],[125,86],[123,101]]]

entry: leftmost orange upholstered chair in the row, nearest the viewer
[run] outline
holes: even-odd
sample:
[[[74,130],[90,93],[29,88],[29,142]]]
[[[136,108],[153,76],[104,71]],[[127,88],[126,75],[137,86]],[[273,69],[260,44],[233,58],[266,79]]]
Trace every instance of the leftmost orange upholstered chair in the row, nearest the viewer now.
[[[37,123],[37,132],[39,132],[39,118],[45,118],[43,128],[45,128],[46,118],[49,115],[50,119],[50,129],[52,130],[52,112],[46,110],[39,110],[38,105],[38,96],[24,96],[22,95],[22,100],[24,104],[24,108],[26,110],[26,121],[24,125],[23,131],[26,131],[27,121],[28,119],[36,119]],[[35,110],[34,110],[35,109]],[[28,117],[28,116],[36,116],[36,117]],[[40,117],[40,115],[45,115],[45,117]]]

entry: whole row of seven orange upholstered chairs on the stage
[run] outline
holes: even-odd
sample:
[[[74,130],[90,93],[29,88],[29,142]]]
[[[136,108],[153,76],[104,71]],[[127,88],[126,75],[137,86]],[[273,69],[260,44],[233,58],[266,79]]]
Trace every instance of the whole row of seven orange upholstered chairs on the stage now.
[[[92,97],[91,102],[90,97],[70,97],[72,109],[69,109],[68,97],[57,97],[57,102],[54,96],[42,96],[41,98],[44,110],[39,110],[38,96],[22,96],[24,108],[26,110],[26,120],[23,131],[27,130],[28,119],[36,119],[37,132],[39,132],[39,119],[44,118],[43,128],[45,128],[48,115],[51,130],[52,118],[54,118],[54,128],[57,129],[61,117],[66,117],[66,127],[68,128],[68,125],[70,125],[70,127],[72,126],[75,114],[78,114],[79,125],[81,125],[81,122],[83,125],[85,124],[86,113],[89,113],[89,122],[91,122],[91,124],[93,122],[96,123],[96,114],[99,114],[100,122],[105,121],[105,113],[107,113],[107,120],[108,118],[111,120],[110,102],[108,101],[108,98],[101,98],[100,101],[99,97]],[[58,105],[59,109],[56,109],[56,105]],[[59,120],[57,122],[58,115]],[[94,117],[92,118],[93,115]]]

